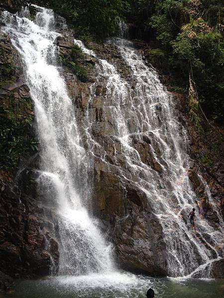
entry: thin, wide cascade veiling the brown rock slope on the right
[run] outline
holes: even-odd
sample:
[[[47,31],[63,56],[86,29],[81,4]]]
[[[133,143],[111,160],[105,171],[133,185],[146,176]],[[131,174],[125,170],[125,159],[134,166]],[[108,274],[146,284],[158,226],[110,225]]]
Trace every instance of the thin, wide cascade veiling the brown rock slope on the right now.
[[[145,65],[131,42],[123,39],[114,39],[112,42],[131,70],[129,82],[121,78],[114,66],[106,60],[100,59],[95,67],[98,80],[106,78],[107,92],[102,113],[107,113],[107,118],[112,119],[109,132],[121,144],[119,155],[121,153],[126,160],[128,171],[120,167],[116,152],[114,157],[117,162],[114,161],[113,164],[118,168],[122,179],[128,181],[131,173],[132,179],[136,179],[132,183],[136,187],[140,186],[147,194],[152,211],[163,228],[169,275],[190,276],[192,272],[206,269],[204,277],[208,277],[207,264],[219,258],[215,247],[222,244],[222,232],[208,221],[198,220],[198,239],[183,221],[183,218],[188,218],[197,196],[187,175],[190,162],[187,131],[178,121],[174,99],[160,83],[156,71]],[[95,53],[88,52],[82,42],[75,40],[75,43],[85,53],[96,57]],[[93,84],[90,103],[95,96]],[[88,115],[87,113],[86,130],[90,131],[95,120],[88,118]],[[143,163],[132,145],[133,138],[140,139],[144,136],[152,140],[151,154],[159,171]],[[90,148],[93,148],[96,140],[90,134],[88,137],[89,143],[92,143]],[[98,150],[97,153],[99,154]],[[103,159],[104,155],[101,151]],[[106,160],[104,162],[107,164]],[[219,211],[214,209],[214,212],[221,219]],[[223,226],[223,221],[220,224]]]

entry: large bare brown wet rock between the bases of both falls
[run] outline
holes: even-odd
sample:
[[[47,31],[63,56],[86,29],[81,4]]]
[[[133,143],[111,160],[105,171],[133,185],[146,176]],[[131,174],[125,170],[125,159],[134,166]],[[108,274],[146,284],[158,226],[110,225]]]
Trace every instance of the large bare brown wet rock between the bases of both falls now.
[[[124,182],[115,168],[100,159],[95,169],[97,213],[112,225],[111,239],[120,266],[135,272],[166,275],[162,228],[150,212],[146,195],[137,185]]]

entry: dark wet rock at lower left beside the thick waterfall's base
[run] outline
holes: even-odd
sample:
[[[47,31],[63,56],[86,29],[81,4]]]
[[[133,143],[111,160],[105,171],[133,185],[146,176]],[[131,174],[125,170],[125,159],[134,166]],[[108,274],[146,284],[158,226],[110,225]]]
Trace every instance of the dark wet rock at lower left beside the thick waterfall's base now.
[[[46,211],[37,206],[36,178],[35,171],[25,168],[18,188],[1,182],[0,262],[1,270],[12,277],[47,275],[52,258],[55,263],[59,258]]]

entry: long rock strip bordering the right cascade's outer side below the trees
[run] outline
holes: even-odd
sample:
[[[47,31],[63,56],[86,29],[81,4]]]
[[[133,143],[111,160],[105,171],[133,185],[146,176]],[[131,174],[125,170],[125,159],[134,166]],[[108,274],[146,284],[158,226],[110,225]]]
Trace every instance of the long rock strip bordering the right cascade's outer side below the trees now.
[[[202,119],[203,131],[198,131],[189,117],[189,100],[187,95],[173,91],[172,77],[167,72],[167,65],[164,58],[155,59],[153,55],[151,55],[150,46],[146,43],[136,41],[135,45],[146,57],[146,62],[153,64],[153,66],[158,69],[160,80],[166,85],[167,89],[173,93],[177,102],[179,102],[178,110],[183,114],[180,116],[183,117],[181,122],[187,122],[188,133],[191,138],[191,157],[194,160],[194,162],[192,162],[191,171],[188,172],[188,176],[204,208],[207,219],[210,219],[215,225],[219,224],[220,221],[212,211],[208,191],[200,179],[200,176],[207,182],[212,198],[215,200],[217,206],[221,208],[224,218],[224,129],[219,126],[211,126],[206,119]],[[161,63],[163,65],[161,65]]]

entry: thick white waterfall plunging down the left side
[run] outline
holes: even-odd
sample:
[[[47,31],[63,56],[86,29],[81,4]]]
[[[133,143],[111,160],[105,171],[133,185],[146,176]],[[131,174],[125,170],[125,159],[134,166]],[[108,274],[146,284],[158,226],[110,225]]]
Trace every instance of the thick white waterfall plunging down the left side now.
[[[87,274],[112,270],[111,246],[101,236],[97,222],[88,215],[77,189],[88,188],[79,171],[86,159],[80,142],[74,107],[56,63],[52,10],[35,6],[34,21],[28,10],[21,16],[4,11],[11,37],[25,65],[25,77],[34,102],[37,134],[40,141],[42,168],[41,188],[47,189],[47,201],[55,210],[60,235],[60,274]],[[85,192],[90,193],[90,192]]]

